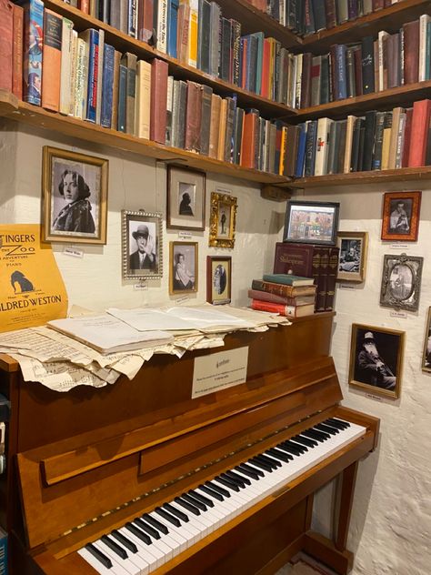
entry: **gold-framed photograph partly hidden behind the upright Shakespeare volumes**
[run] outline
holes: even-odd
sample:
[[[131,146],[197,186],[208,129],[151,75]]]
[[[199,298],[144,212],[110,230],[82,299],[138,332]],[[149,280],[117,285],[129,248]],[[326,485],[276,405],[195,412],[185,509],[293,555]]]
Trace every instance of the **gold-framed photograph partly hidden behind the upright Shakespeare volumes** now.
[[[340,248],[336,280],[365,281],[368,234],[366,232],[338,232],[336,245]]]

